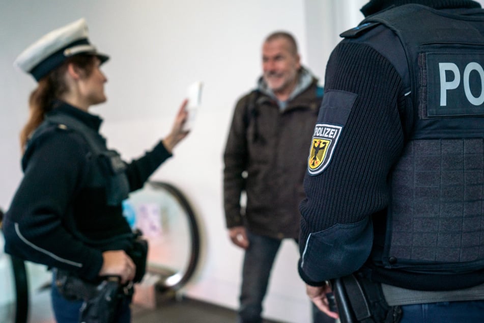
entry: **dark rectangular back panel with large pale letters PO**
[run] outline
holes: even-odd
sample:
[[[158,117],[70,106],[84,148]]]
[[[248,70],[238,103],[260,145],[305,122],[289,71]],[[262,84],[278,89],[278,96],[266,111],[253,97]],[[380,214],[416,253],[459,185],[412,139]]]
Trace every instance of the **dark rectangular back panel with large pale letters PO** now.
[[[484,115],[484,55],[428,53],[428,117]]]

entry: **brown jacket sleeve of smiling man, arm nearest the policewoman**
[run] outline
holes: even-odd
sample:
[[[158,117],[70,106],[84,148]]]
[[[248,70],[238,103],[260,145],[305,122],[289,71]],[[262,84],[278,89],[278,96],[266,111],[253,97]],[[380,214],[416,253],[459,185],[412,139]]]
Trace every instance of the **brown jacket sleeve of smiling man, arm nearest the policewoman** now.
[[[223,206],[227,228],[243,225],[240,196],[245,189],[243,172],[247,170],[246,105],[247,96],[237,102],[223,153]]]

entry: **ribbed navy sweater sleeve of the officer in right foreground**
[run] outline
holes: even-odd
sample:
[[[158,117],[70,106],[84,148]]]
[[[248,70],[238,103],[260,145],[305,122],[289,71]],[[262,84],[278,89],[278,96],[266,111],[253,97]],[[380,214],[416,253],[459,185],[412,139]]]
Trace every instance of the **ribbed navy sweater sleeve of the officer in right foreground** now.
[[[349,275],[366,261],[371,215],[388,204],[387,176],[404,147],[404,102],[400,76],[375,49],[348,41],[334,49],[317,124],[341,131],[326,167],[304,179],[298,269],[306,283]]]

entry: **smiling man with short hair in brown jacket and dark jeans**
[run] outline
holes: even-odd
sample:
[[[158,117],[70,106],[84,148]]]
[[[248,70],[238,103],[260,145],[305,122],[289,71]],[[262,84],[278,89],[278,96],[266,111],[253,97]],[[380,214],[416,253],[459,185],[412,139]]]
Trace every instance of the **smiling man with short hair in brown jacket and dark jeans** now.
[[[223,173],[229,236],[245,249],[239,322],[251,323],[262,322],[262,301],[282,239],[299,236],[307,141],[323,97],[288,33],[266,38],[262,68],[257,89],[235,107]]]

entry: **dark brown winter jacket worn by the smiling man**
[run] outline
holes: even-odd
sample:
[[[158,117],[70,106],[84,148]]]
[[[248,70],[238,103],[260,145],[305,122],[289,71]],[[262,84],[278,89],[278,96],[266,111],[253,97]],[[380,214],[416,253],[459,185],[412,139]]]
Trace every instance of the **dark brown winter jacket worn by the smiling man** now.
[[[259,235],[298,238],[308,143],[322,101],[317,83],[313,77],[283,111],[259,90],[237,102],[223,156],[227,228],[244,225]]]

